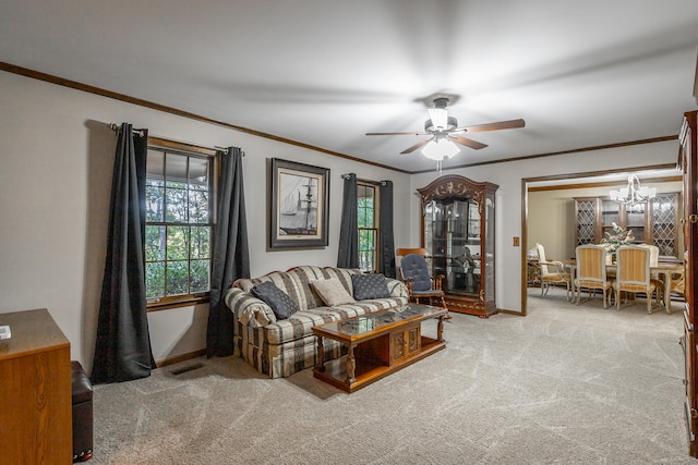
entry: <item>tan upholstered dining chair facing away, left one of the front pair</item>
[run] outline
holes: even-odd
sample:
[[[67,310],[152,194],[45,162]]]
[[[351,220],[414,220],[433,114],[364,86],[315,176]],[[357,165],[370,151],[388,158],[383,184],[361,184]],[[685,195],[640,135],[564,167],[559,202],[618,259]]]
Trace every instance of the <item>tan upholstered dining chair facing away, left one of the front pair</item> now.
[[[580,303],[581,287],[589,291],[591,298],[597,290],[603,293],[603,308],[607,308],[611,298],[612,281],[606,276],[606,248],[601,245],[580,245],[575,249],[576,274],[575,289],[577,290],[577,305]]]

